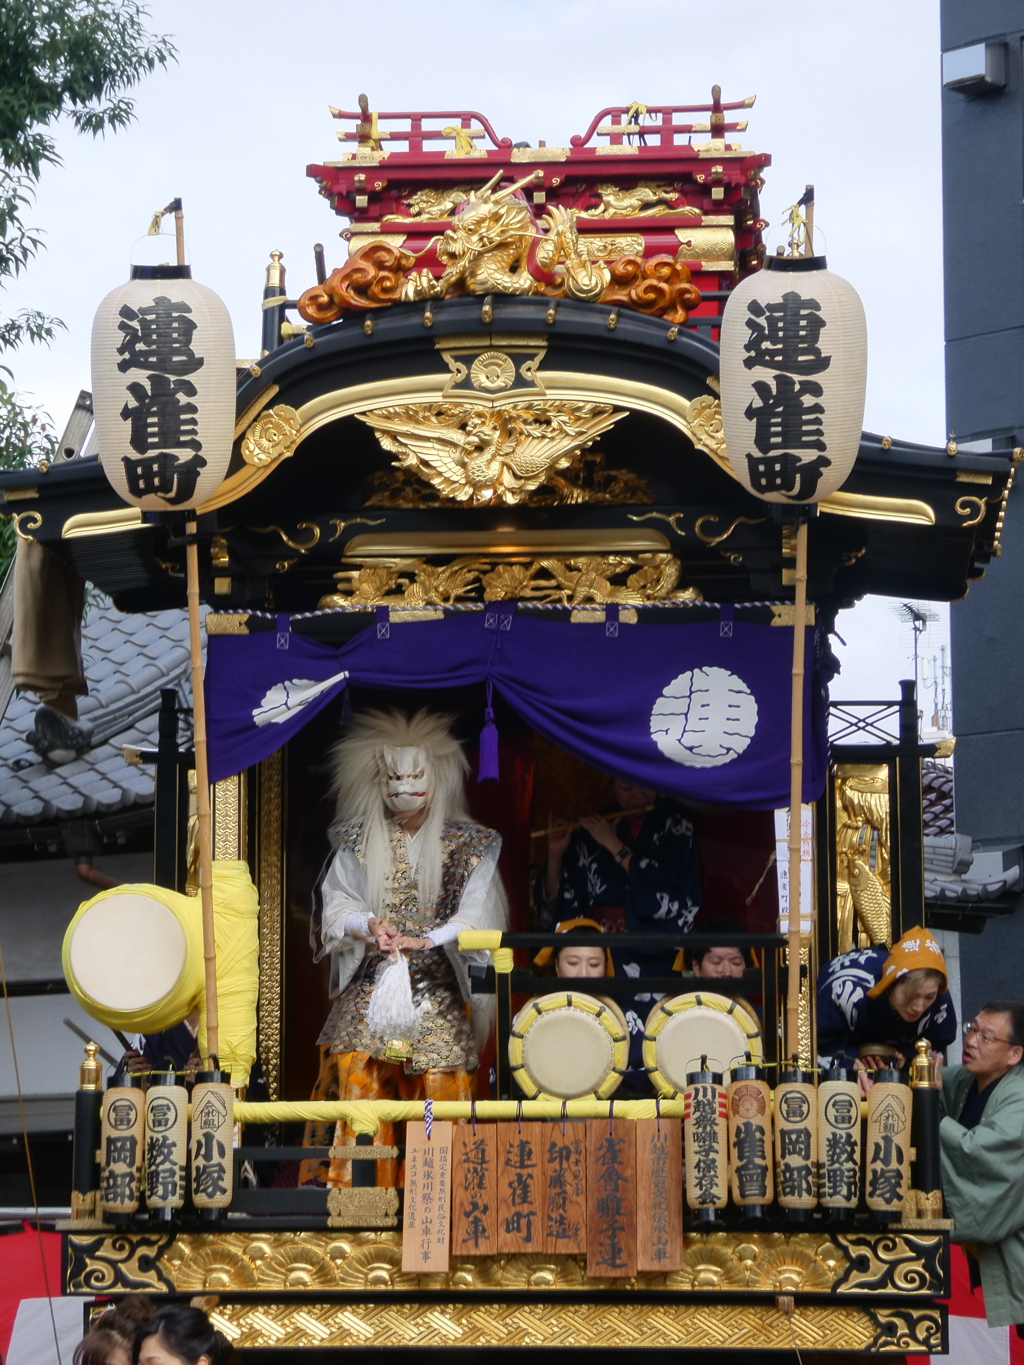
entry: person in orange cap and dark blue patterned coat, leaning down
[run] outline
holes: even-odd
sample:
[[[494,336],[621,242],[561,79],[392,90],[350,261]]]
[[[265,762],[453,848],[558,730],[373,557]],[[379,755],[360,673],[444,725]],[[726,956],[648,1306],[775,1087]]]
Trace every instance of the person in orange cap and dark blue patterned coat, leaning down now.
[[[928,930],[907,930],[892,950],[855,949],[818,977],[818,1059],[867,1073],[905,1066],[919,1037],[945,1051],[957,1036],[942,950]]]

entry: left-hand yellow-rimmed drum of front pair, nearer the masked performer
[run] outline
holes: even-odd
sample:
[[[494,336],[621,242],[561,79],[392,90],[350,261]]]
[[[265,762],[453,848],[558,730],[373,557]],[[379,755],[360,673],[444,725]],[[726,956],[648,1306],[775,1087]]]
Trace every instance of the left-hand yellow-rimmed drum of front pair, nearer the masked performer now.
[[[579,991],[538,995],[512,1022],[508,1059],[527,1099],[608,1099],[629,1065],[625,1016]]]

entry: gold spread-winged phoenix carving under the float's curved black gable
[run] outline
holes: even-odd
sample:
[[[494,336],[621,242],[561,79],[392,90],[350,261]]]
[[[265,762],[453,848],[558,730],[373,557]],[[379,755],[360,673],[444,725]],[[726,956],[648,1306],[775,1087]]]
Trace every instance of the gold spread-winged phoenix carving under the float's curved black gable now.
[[[498,352],[490,358],[482,378],[493,388],[504,386],[501,362],[507,358]],[[399,457],[397,468],[426,479],[445,498],[487,506],[523,502],[545,483],[561,487],[567,501],[576,501],[572,485],[560,480],[558,471],[625,415],[608,403],[568,400],[497,408],[406,403],[358,416],[382,448]]]

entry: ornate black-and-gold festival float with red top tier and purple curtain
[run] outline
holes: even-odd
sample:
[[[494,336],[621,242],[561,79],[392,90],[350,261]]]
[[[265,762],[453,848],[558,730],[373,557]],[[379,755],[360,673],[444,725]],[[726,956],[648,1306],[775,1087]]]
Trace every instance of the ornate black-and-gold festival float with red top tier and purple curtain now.
[[[923,923],[920,762],[935,749],[919,743],[911,684],[898,702],[833,703],[826,743],[826,642],[837,613],[868,592],[963,597],[999,553],[1013,463],[870,433],[857,445],[855,433],[853,467],[814,516],[800,457],[773,467],[774,502],[737,476],[718,343],[730,293],[765,263],[758,194],[770,158],[736,141],[752,102],[722,102],[715,87],[710,104],[603,109],[564,147],[512,145],[468,111],[371,112],[362,98],[358,112],[333,111],[340,160],[307,173],[348,222],[350,254],[328,273],[318,246],[317,278],[296,299],[272,253],[264,352],[238,370],[231,460],[212,490],[197,485],[202,461],[182,420],[176,448],[160,429],[171,453],[123,461],[137,505],[108,482],[117,461],[102,431],[106,470],[74,459],[31,485],[0,475],[19,536],[120,609],[184,606],[191,584],[197,663],[199,601],[209,609],[210,786],[198,669],[194,748],[177,745],[168,695],[160,747],[135,755],[157,770],[149,890],[177,905],[175,893],[201,885],[187,946],[176,957],[156,928],[164,946],[139,946],[167,913],[150,898],[135,919],[126,912],[123,954],[102,957],[100,976],[130,981],[111,988],[105,1017],[120,1009],[137,1029],[154,1026],[154,995],[179,1010],[209,1005],[217,981],[221,1018],[208,1010],[201,1040],[221,1069],[205,1063],[187,1138],[180,1077],[152,1076],[147,1097],[122,1084],[104,1100],[97,1065],[83,1063],[68,1294],[210,1295],[214,1323],[253,1349],[943,1349],[949,1223],[933,1092],[886,1073],[862,1117],[856,1087],[816,1070],[808,986],[836,953]],[[812,198],[804,207],[792,258],[811,253]],[[182,280],[143,272],[152,307],[173,311]],[[142,348],[153,392],[162,373],[164,392],[187,397],[191,332],[168,324],[160,362],[143,355],[137,304],[124,307],[117,354]],[[131,430],[157,429],[139,416]],[[546,644],[531,652],[538,631]],[[449,650],[461,651],[457,676],[445,672]],[[750,688],[730,674],[745,696],[725,726],[733,748],[703,766],[666,687],[695,651],[720,670],[752,657],[758,674]],[[639,725],[651,748],[654,713],[670,713],[661,752],[674,745],[665,767],[685,774],[698,803],[705,905],[740,919],[748,931],[735,942],[755,953],[756,966],[713,995],[679,976],[591,983],[605,1001],[664,995],[650,998],[644,1044],[657,1103],[616,1100],[621,1016],[588,998],[552,1005],[528,965],[553,942],[530,931],[531,856],[545,848],[531,833],[550,809],[593,809],[582,793],[601,796],[523,700],[556,654],[578,661],[580,695],[599,677],[627,721],[649,688]],[[640,666],[650,658],[664,666]],[[266,667],[277,681],[254,708]],[[377,1163],[395,1155],[374,1138],[378,1102],[329,1114],[306,1102],[326,1010],[307,939],[329,846],[324,753],[348,706],[381,702],[457,713],[471,749],[485,682],[501,781],[471,777],[470,799],[502,833],[513,930],[463,935],[460,947],[492,951],[474,990],[497,1002],[494,1097],[472,1112],[390,1104],[388,1117],[410,1121],[396,1189],[377,1183]],[[573,702],[563,698],[567,714]],[[614,771],[613,741],[606,753],[599,733],[588,743]],[[561,807],[545,804],[553,793]],[[255,886],[248,946],[233,957],[217,912],[225,865]],[[692,947],[700,935],[668,942]],[[164,977],[158,990],[147,971]],[[82,981],[72,988],[89,999]],[[519,1014],[530,996],[542,999]],[[225,1062],[228,1014],[231,1028],[243,1016],[242,1035],[255,1024],[259,1096],[239,1087],[244,1039],[238,1065]],[[558,1014],[571,1016],[561,1044]],[[549,1033],[532,1065],[527,1024]],[[926,1070],[919,1059],[915,1078]],[[141,1170],[146,1099],[150,1134],[177,1144],[160,1181]],[[354,1159],[351,1186],[296,1188],[296,1163],[328,1155],[296,1145],[314,1117],[344,1117],[355,1132],[332,1149]]]

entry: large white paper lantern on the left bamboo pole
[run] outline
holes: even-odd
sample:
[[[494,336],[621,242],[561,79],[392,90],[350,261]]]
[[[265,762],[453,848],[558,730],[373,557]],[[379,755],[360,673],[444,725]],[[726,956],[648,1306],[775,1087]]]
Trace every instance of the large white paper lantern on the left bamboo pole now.
[[[235,429],[235,339],[187,265],[132,266],[93,322],[93,410],[104,472],[149,511],[205,502]]]

